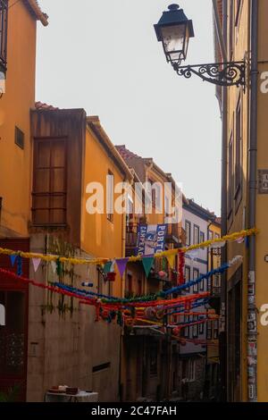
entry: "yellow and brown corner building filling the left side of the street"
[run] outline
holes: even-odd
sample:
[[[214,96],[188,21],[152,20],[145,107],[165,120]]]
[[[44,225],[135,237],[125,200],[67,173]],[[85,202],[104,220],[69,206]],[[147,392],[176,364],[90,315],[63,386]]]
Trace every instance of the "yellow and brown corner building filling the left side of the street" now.
[[[88,214],[86,186],[131,181],[132,174],[97,117],[83,109],[60,110],[35,103],[37,21],[47,16],[34,0],[8,10],[0,30],[0,66],[6,77],[0,103],[0,247],[40,254],[94,258],[124,256],[121,215]],[[4,21],[4,22],[6,22]],[[1,21],[3,25],[3,21]],[[18,29],[21,32],[18,33]],[[8,47],[6,47],[8,46]],[[9,256],[0,265],[16,272]],[[22,274],[43,285],[58,279],[54,266],[22,260]],[[19,399],[42,401],[57,383],[98,392],[99,400],[119,399],[118,325],[98,323],[78,299],[29,286],[0,275],[5,326],[0,335],[0,390],[18,385]],[[105,281],[95,265],[63,266],[59,277],[81,287],[121,296],[121,280]]]

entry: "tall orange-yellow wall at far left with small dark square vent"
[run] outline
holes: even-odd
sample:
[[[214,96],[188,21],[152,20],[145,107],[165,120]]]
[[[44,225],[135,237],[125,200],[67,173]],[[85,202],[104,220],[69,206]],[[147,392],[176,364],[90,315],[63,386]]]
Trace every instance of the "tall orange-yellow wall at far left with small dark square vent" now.
[[[6,93],[0,99],[0,235],[27,236],[30,208],[29,109],[35,104],[35,19],[19,2],[9,9]],[[24,150],[14,143],[15,126],[25,134]]]

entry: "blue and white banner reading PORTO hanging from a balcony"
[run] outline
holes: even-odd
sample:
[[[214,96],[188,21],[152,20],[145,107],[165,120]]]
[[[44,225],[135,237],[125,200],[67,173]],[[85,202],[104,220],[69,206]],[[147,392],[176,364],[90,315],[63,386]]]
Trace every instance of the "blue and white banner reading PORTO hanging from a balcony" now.
[[[166,224],[139,224],[136,256],[152,256],[164,251]]]

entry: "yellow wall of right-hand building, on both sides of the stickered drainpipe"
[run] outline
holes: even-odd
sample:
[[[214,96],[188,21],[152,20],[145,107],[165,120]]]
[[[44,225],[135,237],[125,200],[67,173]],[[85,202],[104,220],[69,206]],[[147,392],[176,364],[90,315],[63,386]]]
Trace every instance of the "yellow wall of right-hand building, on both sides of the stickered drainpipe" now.
[[[250,15],[249,0],[242,2],[243,8],[239,21],[239,28],[235,30],[234,38],[234,56],[233,60],[243,59],[245,52],[250,51]],[[258,0],[258,61],[268,60],[268,27],[266,17],[268,15],[268,2],[266,0]],[[261,73],[268,71],[267,63],[258,64],[259,71],[259,88],[258,88],[258,105],[257,105],[257,169],[268,169],[268,143],[267,143],[267,109],[268,94],[263,94],[260,89]],[[229,139],[230,132],[234,127],[234,116],[236,105],[239,97],[238,88],[228,88],[228,121],[229,121]],[[233,222],[229,223],[229,231],[239,231],[245,228],[247,224],[248,214],[248,161],[247,150],[249,142],[249,98],[250,88],[247,86],[246,93],[243,93],[242,113],[243,113],[243,196],[237,214],[233,214]],[[234,151],[235,159],[235,151]],[[262,305],[268,303],[268,265],[264,262],[264,256],[268,254],[268,233],[267,233],[267,208],[268,196],[257,194],[256,197],[256,226],[261,230],[256,237],[256,307],[260,309]],[[242,363],[242,391],[241,399],[247,400],[247,249],[241,247],[236,242],[228,245],[228,259],[236,255],[243,255],[243,309],[242,309],[242,333],[241,333],[241,363]],[[228,271],[228,278],[236,271],[238,267],[234,266]],[[257,397],[259,402],[268,401],[268,330],[260,323],[258,317],[258,339],[257,339]]]

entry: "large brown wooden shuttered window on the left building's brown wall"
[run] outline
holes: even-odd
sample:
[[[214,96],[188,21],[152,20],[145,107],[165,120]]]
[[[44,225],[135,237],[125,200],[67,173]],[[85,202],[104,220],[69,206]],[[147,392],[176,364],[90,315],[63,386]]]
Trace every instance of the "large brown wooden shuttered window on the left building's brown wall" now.
[[[66,139],[35,139],[32,221],[38,225],[66,223]]]

